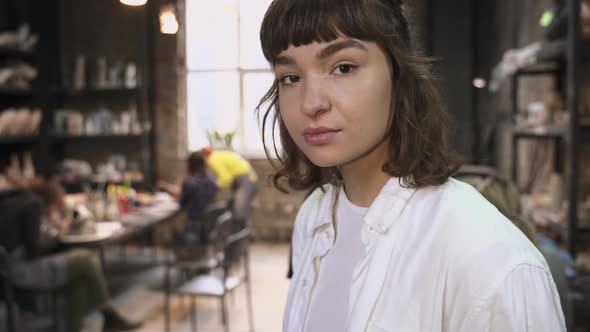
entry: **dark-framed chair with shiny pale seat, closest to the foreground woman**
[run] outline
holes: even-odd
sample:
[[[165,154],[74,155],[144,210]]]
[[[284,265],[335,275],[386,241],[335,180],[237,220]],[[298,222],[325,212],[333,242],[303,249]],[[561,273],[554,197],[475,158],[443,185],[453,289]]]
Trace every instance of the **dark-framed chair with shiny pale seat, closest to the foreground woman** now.
[[[248,309],[248,321],[250,331],[254,331],[252,317],[252,289],[250,284],[250,268],[248,255],[248,242],[250,230],[243,229],[238,233],[232,234],[224,241],[223,255],[220,257],[218,268],[221,269],[221,275],[218,271],[211,271],[206,275],[198,275],[182,285],[176,293],[191,296],[191,327],[193,331],[197,329],[195,298],[198,296],[216,297],[221,300],[221,320],[225,332],[229,331],[229,319],[226,307],[225,297],[239,285],[246,286],[246,300]],[[233,273],[239,263],[242,263],[243,273]]]

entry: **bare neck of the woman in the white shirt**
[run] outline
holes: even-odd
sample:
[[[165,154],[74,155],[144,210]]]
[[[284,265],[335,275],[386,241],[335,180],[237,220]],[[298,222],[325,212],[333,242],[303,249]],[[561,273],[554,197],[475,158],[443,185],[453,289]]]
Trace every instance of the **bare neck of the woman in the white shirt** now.
[[[391,178],[381,170],[388,159],[388,144],[383,142],[369,154],[340,167],[344,191],[352,204],[368,207],[373,203]]]

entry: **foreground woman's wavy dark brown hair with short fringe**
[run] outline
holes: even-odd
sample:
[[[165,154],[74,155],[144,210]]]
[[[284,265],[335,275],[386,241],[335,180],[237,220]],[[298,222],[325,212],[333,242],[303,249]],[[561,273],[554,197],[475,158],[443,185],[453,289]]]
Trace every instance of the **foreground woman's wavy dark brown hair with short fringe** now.
[[[460,161],[447,148],[448,117],[431,72],[432,61],[412,46],[401,0],[274,0],[260,29],[262,51],[271,64],[291,44],[330,42],[342,36],[377,43],[393,68],[391,151],[382,170],[406,187],[443,184]],[[335,167],[314,165],[289,136],[280,114],[278,87],[275,79],[256,109],[259,112],[262,104],[270,103],[263,117],[262,137],[276,169],[273,184],[284,190],[280,183],[284,179],[290,188],[299,190],[339,183]],[[278,162],[270,157],[264,140],[269,121]],[[277,124],[282,154],[274,141]]]

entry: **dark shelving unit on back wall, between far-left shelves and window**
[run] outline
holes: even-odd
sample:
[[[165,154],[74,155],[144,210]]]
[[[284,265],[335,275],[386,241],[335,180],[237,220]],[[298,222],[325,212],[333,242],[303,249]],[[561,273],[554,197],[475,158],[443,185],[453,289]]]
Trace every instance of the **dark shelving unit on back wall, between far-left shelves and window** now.
[[[93,0],[99,2],[100,0]],[[96,4],[95,2],[95,4]],[[59,66],[64,66],[64,63],[71,62],[72,54],[67,54],[67,51],[63,51],[60,49],[61,43],[63,40],[63,36],[59,34],[59,31],[68,31],[68,20],[63,19],[60,20],[59,13],[61,13],[60,6],[71,6],[71,4],[66,4],[61,1],[56,1],[56,17],[57,19],[53,23],[55,25],[54,32],[57,34],[58,43],[54,46],[54,56],[57,59],[57,63]],[[67,10],[74,10],[74,7],[69,8],[66,7]],[[149,54],[146,52],[145,44],[146,44],[146,36],[148,34],[148,27],[149,27],[149,20],[151,17],[151,12],[149,11],[149,6],[144,6],[141,8],[134,8],[130,9],[127,6],[119,6],[116,10],[132,10],[135,11],[135,17],[130,22],[131,24],[137,25],[137,31],[139,32],[137,43],[133,45],[131,49],[133,50],[132,53],[134,54],[127,54],[122,59],[133,59],[133,61],[137,65],[137,73],[138,73],[138,82],[136,87],[126,87],[126,86],[114,86],[114,87],[96,87],[90,81],[87,81],[87,87],[80,90],[75,90],[71,88],[71,83],[68,84],[64,77],[64,70],[60,68],[57,70],[57,80],[55,80],[54,85],[52,85],[51,91],[51,98],[54,101],[54,105],[51,110],[48,112],[48,117],[53,120],[53,116],[55,114],[55,110],[60,108],[68,109],[70,106],[74,105],[72,109],[75,109],[84,116],[94,109],[94,107],[106,107],[112,109],[113,114],[117,114],[120,108],[117,108],[121,104],[125,103],[133,103],[136,106],[137,115],[139,120],[143,123],[146,120],[149,120],[153,125],[153,105],[149,103],[148,100],[148,89],[149,89],[149,78],[150,78],[150,68],[148,65]],[[96,33],[97,30],[86,30],[83,29],[80,33]],[[99,35],[96,35],[100,37]],[[97,38],[98,38],[97,37]],[[100,37],[102,38],[102,37]],[[100,39],[99,38],[99,39]],[[84,49],[82,45],[68,45],[73,50],[76,50],[77,47],[81,47]],[[117,54],[117,52],[113,52],[112,50],[100,50],[100,49],[92,49],[87,51],[87,58],[97,57],[99,55],[110,54]],[[102,53],[101,53],[102,52]],[[70,50],[70,53],[71,52]],[[71,73],[70,73],[71,74]],[[113,150],[113,153],[121,153],[126,155],[129,158],[129,153],[139,152],[137,154],[136,159],[139,162],[140,169],[144,173],[144,178],[146,183],[153,182],[154,178],[154,141],[152,139],[153,130],[144,130],[140,134],[133,134],[133,133],[126,133],[126,134],[113,134],[111,132],[107,132],[104,134],[96,134],[96,135],[68,135],[66,133],[56,132],[55,128],[49,128],[47,131],[47,144],[48,150],[50,150],[50,154],[54,157],[50,164],[53,164],[53,167],[56,166],[58,162],[65,158],[71,158],[72,156],[68,153],[72,151],[70,147],[74,147],[77,151],[80,151],[80,147],[88,147],[88,150],[92,151],[110,151]],[[133,150],[133,151],[131,151]],[[83,156],[74,156],[74,158],[84,159]],[[135,159],[134,159],[135,160]]]

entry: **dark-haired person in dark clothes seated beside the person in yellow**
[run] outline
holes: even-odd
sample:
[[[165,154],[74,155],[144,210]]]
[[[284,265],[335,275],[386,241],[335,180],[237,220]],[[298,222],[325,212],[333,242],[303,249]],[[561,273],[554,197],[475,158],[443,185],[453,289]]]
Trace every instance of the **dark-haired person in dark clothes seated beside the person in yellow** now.
[[[215,200],[218,188],[213,179],[207,176],[205,157],[193,152],[187,160],[189,176],[182,181],[182,187],[160,181],[160,187],[174,196],[186,212],[188,226],[199,233],[202,242],[207,241],[207,230],[197,224],[201,213]]]

